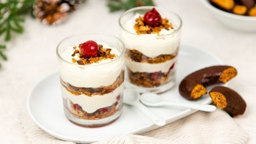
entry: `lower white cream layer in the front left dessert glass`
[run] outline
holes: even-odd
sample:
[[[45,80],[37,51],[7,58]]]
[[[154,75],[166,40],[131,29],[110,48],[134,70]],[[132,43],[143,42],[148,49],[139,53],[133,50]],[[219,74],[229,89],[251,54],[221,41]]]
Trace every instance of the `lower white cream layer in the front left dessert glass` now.
[[[73,95],[61,86],[63,98],[68,98],[74,104],[78,104],[87,113],[93,113],[97,109],[112,106],[116,101],[119,94],[123,93],[124,84],[118,86],[113,92],[104,95],[92,95],[88,97],[85,94]]]

